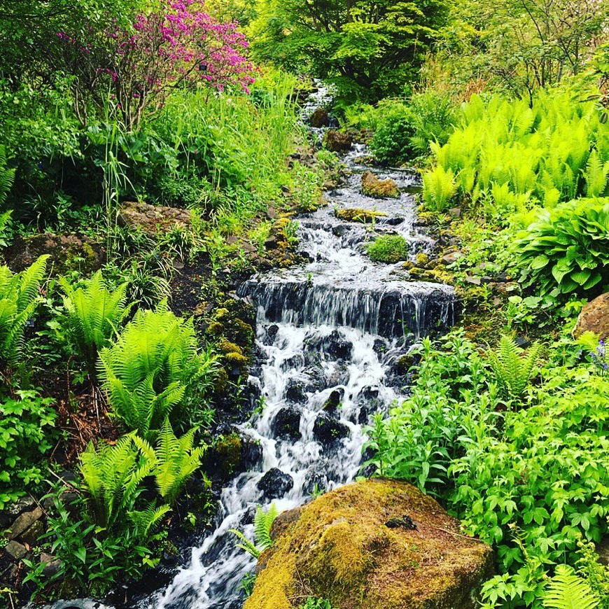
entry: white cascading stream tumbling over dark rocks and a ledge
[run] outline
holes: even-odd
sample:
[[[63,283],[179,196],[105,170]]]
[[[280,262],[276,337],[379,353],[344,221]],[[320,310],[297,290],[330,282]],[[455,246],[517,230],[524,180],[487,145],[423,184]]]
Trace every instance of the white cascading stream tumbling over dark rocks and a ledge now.
[[[452,321],[451,288],[408,280],[401,264],[378,265],[363,253],[367,230],[340,221],[335,207],[386,214],[374,232],[398,232],[412,255],[428,251],[416,232],[412,189],[416,174],[394,170],[398,200],[360,194],[356,147],[346,157],[352,174],[328,195],[328,207],[298,219],[300,248],[310,262],[254,276],[239,289],[258,308],[260,356],[250,382],[263,397],[261,412],[240,426],[260,443],[262,459],[238,475],[221,495],[221,524],[192,550],[155,609],[239,608],[241,579],[255,560],[235,545],[237,528],[253,538],[255,507],[274,500],[280,510],[300,505],[314,491],[333,489],[360,470],[363,426],[372,412],[400,398],[395,362],[430,328]],[[385,177],[384,175],[381,177]]]

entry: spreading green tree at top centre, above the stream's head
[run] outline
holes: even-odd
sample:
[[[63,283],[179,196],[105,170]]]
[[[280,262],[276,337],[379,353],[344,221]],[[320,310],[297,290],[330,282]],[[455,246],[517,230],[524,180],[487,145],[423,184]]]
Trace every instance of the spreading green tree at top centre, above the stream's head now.
[[[343,94],[379,99],[416,76],[446,18],[441,0],[265,0],[251,27],[253,51],[310,69]]]

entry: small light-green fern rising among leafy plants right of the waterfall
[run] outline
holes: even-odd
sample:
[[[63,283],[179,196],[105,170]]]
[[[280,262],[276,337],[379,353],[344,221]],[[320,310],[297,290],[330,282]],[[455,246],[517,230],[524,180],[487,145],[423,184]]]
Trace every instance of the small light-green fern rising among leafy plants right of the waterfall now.
[[[489,363],[504,400],[521,402],[540,352],[541,345],[535,343],[525,354],[514,339],[506,335],[500,338],[497,351],[489,351]]]

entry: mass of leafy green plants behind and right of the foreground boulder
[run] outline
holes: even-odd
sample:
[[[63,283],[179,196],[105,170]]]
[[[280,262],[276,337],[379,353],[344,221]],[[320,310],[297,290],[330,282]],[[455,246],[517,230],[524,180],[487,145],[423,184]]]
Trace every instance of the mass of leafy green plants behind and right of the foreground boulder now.
[[[485,606],[539,607],[545,573],[577,561],[578,536],[607,531],[609,381],[555,349],[524,389],[528,407],[505,411],[474,344],[458,333],[440,349],[426,342],[412,394],[369,431],[381,475],[440,496],[496,547]]]

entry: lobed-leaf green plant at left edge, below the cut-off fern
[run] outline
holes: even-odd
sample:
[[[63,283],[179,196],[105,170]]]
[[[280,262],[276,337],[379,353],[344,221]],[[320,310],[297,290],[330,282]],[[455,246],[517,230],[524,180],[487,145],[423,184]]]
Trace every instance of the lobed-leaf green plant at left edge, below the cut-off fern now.
[[[56,435],[52,402],[35,391],[0,400],[0,510],[43,480],[41,460]]]

